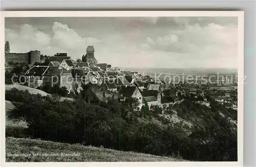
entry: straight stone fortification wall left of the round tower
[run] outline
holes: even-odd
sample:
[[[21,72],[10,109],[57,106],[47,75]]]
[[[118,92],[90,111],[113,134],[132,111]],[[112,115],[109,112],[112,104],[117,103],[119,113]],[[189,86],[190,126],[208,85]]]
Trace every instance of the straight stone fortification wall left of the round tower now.
[[[28,53],[5,53],[5,63],[14,62],[25,62],[28,63],[29,52]]]

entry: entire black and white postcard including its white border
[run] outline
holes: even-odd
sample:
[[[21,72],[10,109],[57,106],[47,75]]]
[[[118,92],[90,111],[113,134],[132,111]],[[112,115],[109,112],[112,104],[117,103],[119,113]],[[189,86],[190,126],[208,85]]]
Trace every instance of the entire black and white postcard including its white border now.
[[[5,161],[241,161],[243,12],[110,13],[4,18]]]

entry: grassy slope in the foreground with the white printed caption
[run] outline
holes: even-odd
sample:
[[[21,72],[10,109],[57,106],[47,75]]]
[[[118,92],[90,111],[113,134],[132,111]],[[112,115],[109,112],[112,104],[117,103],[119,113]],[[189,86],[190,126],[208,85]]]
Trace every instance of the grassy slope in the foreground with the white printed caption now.
[[[58,156],[8,156],[8,153],[48,153]],[[80,153],[79,156],[61,156],[61,153]],[[31,140],[29,138],[6,138],[6,161],[7,162],[114,162],[114,161],[183,161],[169,157],[155,156],[150,154],[116,151],[80,144],[65,144],[49,141]]]

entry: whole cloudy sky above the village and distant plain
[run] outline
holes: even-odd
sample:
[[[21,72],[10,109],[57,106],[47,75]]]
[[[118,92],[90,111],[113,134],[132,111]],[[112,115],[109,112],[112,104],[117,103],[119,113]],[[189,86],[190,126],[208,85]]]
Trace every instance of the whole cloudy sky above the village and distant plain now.
[[[237,68],[237,17],[8,17],[10,52],[66,52],[93,45],[99,63],[129,68]]]

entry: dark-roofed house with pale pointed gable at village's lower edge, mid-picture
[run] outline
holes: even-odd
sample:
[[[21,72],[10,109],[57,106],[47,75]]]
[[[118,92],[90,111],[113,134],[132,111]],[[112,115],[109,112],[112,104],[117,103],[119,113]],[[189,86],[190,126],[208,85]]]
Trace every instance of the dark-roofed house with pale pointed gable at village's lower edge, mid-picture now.
[[[140,103],[142,103],[142,95],[139,91],[138,87],[127,87],[127,86],[122,86],[118,94],[120,98],[124,98],[124,101],[126,98],[132,97],[132,98],[137,98]]]

